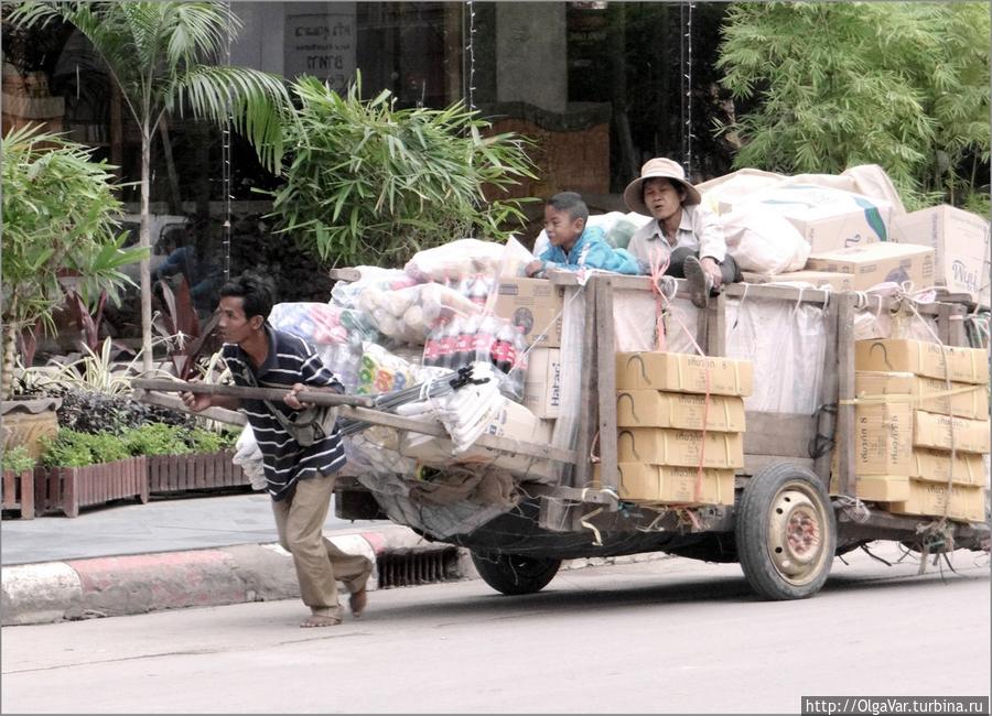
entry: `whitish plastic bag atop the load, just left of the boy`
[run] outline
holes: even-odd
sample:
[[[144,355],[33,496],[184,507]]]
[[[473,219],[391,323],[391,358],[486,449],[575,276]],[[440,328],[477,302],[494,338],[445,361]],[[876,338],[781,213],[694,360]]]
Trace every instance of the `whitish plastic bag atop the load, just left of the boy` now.
[[[530,252],[514,238],[505,245],[457,239],[444,246],[418,251],[403,267],[403,271],[419,282],[448,284],[457,276],[521,275],[530,259]]]

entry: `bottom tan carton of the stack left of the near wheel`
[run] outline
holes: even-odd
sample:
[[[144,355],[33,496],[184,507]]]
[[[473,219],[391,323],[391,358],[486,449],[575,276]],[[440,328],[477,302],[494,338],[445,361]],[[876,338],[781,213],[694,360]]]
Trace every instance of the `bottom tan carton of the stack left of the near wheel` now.
[[[616,467],[622,500],[681,505],[734,503],[734,470],[704,469],[702,479],[699,480],[699,470],[694,467],[643,463],[618,463]],[[593,476],[599,480],[599,466]]]

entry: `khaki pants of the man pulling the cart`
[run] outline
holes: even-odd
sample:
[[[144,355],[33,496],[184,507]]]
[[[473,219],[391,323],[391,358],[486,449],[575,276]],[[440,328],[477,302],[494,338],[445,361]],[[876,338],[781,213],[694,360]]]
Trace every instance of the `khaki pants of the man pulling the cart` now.
[[[296,482],[292,496],[272,502],[279,544],[293,555],[300,597],[314,614],[342,616],[337,601],[341,579],[348,592],[365,586],[371,562],[360,554],[347,554],[324,538],[324,520],[331,507],[336,475],[317,475]]]

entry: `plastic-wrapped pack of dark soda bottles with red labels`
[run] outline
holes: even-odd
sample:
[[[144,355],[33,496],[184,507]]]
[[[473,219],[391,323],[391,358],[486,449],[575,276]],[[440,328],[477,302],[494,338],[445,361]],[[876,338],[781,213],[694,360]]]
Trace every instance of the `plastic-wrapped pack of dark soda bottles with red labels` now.
[[[519,327],[497,316],[454,316],[431,332],[423,346],[423,365],[457,370],[489,361],[506,379],[500,391],[516,401],[524,398],[527,340]]]

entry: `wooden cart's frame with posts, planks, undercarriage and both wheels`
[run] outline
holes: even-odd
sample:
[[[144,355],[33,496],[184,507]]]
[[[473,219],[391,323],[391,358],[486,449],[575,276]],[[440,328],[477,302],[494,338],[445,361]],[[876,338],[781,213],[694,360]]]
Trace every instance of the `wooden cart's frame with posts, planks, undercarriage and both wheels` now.
[[[352,272],[348,272],[352,271]],[[336,278],[354,280],[353,270]],[[576,285],[573,274],[551,280]],[[699,314],[698,341],[709,356],[725,355],[726,301],[755,299],[827,305],[826,352],[819,410],[815,415],[747,412],[745,466],[735,477],[733,506],[658,509],[622,502],[617,471],[614,291],[650,291],[647,276],[593,274],[585,292],[582,335],[579,434],[574,449],[484,436],[486,447],[565,463],[571,469],[558,485],[524,484],[528,496],[517,509],[468,534],[444,538],[472,550],[481,576],[507,594],[537,592],[554,576],[561,560],[664,551],[714,562],[740,562],[763,597],[792,599],[816,594],[835,554],[873,540],[894,540],[939,551],[941,541],[957,549],[980,550],[989,527],[864,510],[854,499],[854,314],[858,295],[792,286],[731,284]],[[688,295],[678,281],[679,295]],[[898,300],[873,296],[869,308],[906,310]],[[946,345],[967,345],[960,304],[934,303],[916,308],[935,316]],[[392,415],[343,408],[343,415],[398,428],[413,427]],[[823,436],[834,436],[835,442]],[[599,481],[592,481],[587,457],[599,446]],[[813,448],[813,454],[810,449]],[[831,460],[838,489],[828,497]],[[360,490],[354,480],[342,491]],[[342,495],[347,498],[347,495]],[[339,499],[339,505],[357,503]],[[343,513],[346,518],[368,513]],[[920,531],[923,530],[923,536]],[[921,545],[921,539],[932,544]],[[952,541],[952,542],[951,542]],[[988,549],[988,546],[985,546]]]

